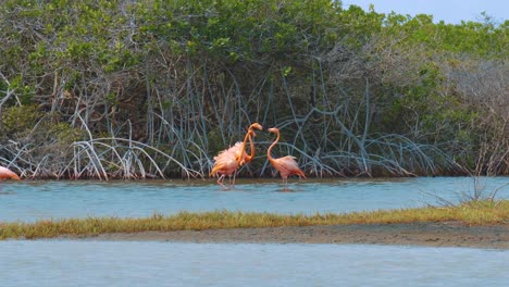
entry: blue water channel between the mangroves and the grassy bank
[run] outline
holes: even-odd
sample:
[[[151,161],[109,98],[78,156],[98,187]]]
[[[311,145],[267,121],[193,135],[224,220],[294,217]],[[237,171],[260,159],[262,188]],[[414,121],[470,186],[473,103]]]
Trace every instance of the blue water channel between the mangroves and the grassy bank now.
[[[509,183],[509,177],[483,179],[485,192]],[[452,202],[459,191],[470,192],[467,177],[302,180],[283,192],[276,180],[240,180],[223,190],[207,180],[147,182],[4,182],[0,192],[0,221],[85,216],[150,216],[182,210],[266,211],[277,213],[351,212],[435,204],[431,192]],[[509,185],[498,191],[509,198]]]

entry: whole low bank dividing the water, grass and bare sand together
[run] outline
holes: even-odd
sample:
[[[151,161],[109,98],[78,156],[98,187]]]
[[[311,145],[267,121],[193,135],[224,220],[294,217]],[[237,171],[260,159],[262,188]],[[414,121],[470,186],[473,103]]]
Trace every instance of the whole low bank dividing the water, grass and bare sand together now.
[[[213,211],[0,222],[0,239],[459,246],[509,249],[509,200],[344,214]]]

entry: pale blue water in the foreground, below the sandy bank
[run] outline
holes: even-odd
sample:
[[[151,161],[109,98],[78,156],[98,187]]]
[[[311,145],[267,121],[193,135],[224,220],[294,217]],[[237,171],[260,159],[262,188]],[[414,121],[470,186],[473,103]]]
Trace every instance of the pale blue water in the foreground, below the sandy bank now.
[[[507,286],[509,251],[361,245],[0,242],[0,286]]]

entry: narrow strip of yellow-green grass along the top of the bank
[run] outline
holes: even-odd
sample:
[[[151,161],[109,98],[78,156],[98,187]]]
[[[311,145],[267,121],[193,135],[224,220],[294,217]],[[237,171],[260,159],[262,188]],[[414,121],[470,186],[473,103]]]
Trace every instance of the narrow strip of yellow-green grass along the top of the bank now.
[[[333,224],[390,224],[458,221],[469,225],[509,224],[509,200],[473,201],[458,207],[380,210],[345,214],[282,215],[275,213],[213,211],[181,212],[144,219],[87,217],[36,223],[0,223],[0,239],[85,237],[104,233],[147,230],[202,230],[211,228],[309,226]]]

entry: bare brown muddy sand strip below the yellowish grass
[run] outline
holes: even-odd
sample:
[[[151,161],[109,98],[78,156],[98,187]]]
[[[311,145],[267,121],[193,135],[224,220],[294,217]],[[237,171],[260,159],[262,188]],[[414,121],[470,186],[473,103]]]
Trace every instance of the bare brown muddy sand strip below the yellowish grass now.
[[[373,244],[509,249],[509,225],[351,224],[101,234],[82,240],[257,244]]]

